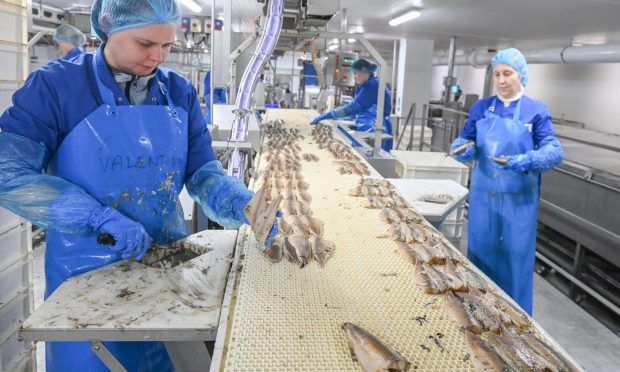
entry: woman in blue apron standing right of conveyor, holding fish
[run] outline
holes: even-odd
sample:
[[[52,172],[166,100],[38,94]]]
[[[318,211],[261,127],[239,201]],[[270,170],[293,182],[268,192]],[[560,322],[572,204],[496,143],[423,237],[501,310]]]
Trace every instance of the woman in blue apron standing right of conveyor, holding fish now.
[[[504,49],[491,63],[497,95],[472,106],[451,146],[457,160],[474,160],[467,256],[531,315],[540,173],[564,153],[547,107],[523,95],[523,54]]]

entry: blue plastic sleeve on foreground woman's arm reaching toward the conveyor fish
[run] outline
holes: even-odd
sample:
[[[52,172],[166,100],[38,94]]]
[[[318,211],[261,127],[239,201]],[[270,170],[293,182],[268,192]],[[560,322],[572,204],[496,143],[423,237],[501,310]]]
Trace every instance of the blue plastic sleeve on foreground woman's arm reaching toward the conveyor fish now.
[[[248,223],[243,209],[254,192],[248,190],[241,180],[227,176],[218,160],[200,167],[186,182],[186,186],[210,220],[227,229],[237,229]]]

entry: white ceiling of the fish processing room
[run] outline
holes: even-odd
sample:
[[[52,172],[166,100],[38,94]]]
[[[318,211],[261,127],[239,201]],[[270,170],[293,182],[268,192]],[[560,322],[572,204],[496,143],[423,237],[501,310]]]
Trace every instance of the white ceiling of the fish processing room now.
[[[33,0],[37,1],[37,0]],[[211,1],[197,0],[202,14],[210,15]],[[308,0],[310,3],[313,0]],[[323,0],[314,0],[319,4]],[[620,42],[620,0],[333,0],[347,9],[348,32],[363,32],[373,44],[390,50],[389,40],[401,37],[435,41],[436,50],[448,47],[450,36],[457,48],[498,48],[508,45],[537,48],[570,44],[572,41]],[[45,0],[67,8],[89,6],[92,0]],[[215,0],[216,15],[223,13],[223,0]],[[333,2],[331,2],[333,4]],[[390,27],[394,15],[411,7],[422,15]],[[232,0],[233,24],[248,31],[251,20],[261,14],[256,0]],[[187,14],[191,14],[188,9]],[[340,31],[340,14],[328,30]],[[237,28],[237,27],[235,27]],[[235,29],[234,28],[234,29]]]

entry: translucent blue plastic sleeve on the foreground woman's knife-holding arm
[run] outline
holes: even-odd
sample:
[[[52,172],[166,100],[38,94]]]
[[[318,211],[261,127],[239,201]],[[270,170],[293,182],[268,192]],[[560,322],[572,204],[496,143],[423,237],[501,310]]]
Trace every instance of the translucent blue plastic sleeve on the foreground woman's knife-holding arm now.
[[[43,144],[0,133],[0,206],[62,233],[89,231],[90,216],[101,204],[81,187],[41,173],[47,157]]]

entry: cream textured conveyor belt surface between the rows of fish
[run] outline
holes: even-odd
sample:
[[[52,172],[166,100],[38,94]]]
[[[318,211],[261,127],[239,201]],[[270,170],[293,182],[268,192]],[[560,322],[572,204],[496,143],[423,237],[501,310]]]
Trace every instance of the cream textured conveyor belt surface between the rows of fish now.
[[[350,321],[418,369],[473,370],[464,336],[445,314],[443,297],[424,294],[413,283],[412,266],[394,253],[396,244],[377,238],[388,227],[379,220],[379,210],[363,208],[365,198],[348,195],[359,178],[339,175],[334,159],[311,144],[310,114],[271,110],[268,120],[282,118],[301,129],[302,153],[320,158],[303,162],[302,172],[314,216],[325,222],[325,238],[336,244],[334,256],[322,269],[316,262],[303,269],[285,260],[273,264],[253,239],[245,239],[238,289],[229,298],[231,324],[221,367],[357,371],[341,329]]]

